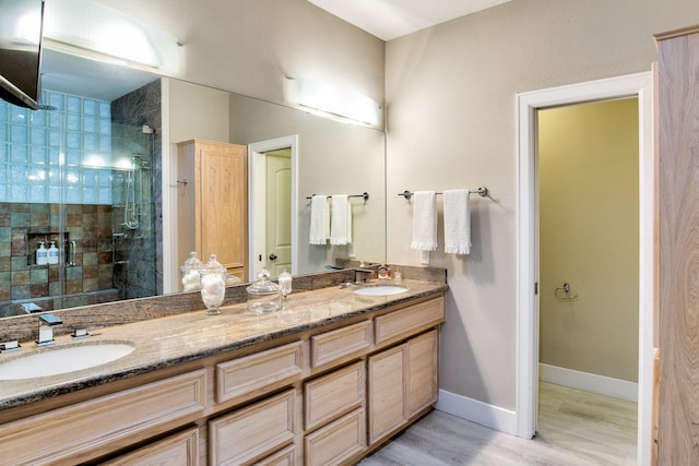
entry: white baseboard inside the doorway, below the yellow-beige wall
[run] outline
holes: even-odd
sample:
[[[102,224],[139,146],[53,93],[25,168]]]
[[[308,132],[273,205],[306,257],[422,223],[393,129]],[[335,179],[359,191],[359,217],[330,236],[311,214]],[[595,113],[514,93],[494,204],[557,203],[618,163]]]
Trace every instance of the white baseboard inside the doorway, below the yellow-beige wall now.
[[[638,383],[636,382],[597,375],[590,372],[580,372],[541,362],[538,365],[538,377],[543,382],[638,403]]]

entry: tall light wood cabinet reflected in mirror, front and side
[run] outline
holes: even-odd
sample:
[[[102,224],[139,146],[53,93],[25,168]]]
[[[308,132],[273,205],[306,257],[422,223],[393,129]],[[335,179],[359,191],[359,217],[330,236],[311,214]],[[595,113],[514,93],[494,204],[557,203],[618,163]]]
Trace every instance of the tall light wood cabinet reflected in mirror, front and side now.
[[[177,144],[177,255],[206,262],[216,254],[229,274],[248,282],[248,148],[186,141]]]

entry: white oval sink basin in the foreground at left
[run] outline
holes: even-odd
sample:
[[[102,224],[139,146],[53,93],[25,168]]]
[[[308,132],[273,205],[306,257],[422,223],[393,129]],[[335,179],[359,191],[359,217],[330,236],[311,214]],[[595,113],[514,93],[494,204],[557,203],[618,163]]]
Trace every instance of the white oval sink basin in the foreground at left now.
[[[0,380],[34,379],[57,375],[116,361],[131,354],[128,343],[86,343],[46,348],[0,362]]]

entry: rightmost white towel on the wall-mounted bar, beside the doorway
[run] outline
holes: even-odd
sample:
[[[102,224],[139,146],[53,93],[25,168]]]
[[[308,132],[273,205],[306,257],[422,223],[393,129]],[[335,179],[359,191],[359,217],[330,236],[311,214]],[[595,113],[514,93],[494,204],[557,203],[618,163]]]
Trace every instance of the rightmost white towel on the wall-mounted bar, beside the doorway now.
[[[469,190],[454,189],[443,193],[445,199],[445,252],[471,253],[471,206]]]

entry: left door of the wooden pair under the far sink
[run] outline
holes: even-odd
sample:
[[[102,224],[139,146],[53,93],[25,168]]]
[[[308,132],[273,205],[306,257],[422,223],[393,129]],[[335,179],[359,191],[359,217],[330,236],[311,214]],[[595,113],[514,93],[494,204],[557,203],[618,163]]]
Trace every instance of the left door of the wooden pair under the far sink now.
[[[407,421],[406,348],[399,345],[369,357],[369,443]]]

